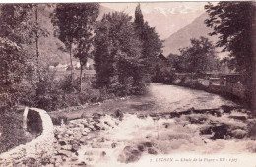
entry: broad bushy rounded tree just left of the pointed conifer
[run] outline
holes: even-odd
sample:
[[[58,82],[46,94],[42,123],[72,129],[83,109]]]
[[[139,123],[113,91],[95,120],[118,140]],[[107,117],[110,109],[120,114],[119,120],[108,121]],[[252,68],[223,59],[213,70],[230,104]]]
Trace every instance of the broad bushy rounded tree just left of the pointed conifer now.
[[[96,27],[96,86],[124,96],[143,88],[134,83],[134,70],[143,66],[141,43],[131,17],[115,12],[104,15]]]

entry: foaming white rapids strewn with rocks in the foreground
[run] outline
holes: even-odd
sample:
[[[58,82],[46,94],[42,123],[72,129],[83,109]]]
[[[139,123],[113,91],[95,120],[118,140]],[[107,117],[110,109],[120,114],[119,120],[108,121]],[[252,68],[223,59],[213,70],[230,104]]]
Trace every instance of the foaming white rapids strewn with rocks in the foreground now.
[[[155,114],[97,114],[55,127],[55,153],[47,165],[129,166],[143,157],[196,152],[255,153],[252,119],[245,109]]]

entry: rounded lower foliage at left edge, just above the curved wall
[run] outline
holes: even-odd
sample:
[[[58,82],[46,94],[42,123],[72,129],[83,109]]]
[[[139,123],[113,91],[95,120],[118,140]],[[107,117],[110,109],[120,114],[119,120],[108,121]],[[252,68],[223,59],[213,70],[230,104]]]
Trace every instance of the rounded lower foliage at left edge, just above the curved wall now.
[[[25,56],[21,48],[9,39],[0,37],[0,108],[8,109],[21,96],[25,68]]]

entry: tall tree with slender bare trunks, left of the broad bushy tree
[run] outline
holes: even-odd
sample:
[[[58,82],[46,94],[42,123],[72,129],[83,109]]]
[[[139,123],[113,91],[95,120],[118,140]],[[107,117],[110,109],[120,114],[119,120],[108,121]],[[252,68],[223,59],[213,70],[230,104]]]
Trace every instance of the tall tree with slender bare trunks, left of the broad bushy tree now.
[[[96,23],[98,12],[98,3],[57,4],[53,12],[52,23],[57,27],[58,38],[69,50],[72,80],[72,53],[80,59],[81,70],[83,70],[87,60],[84,56],[88,55],[91,42],[89,38],[92,36],[92,26]]]

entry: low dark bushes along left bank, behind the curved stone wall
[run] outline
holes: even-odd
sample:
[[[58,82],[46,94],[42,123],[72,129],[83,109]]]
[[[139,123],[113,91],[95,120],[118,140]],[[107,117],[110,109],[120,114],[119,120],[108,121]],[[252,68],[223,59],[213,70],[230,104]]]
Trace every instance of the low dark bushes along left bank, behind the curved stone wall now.
[[[39,80],[31,78],[26,83],[22,104],[38,107],[45,111],[55,111],[115,97],[113,93],[109,93],[109,89],[94,89],[91,79],[83,79],[83,91],[79,92],[79,78],[72,83],[71,75],[68,75],[58,81],[55,79],[55,73],[47,68],[42,68],[39,75]]]

